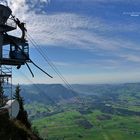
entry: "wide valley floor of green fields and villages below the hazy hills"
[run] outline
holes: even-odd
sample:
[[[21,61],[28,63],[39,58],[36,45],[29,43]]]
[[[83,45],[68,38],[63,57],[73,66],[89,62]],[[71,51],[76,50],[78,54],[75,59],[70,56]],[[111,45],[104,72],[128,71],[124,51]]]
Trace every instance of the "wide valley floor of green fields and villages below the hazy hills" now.
[[[119,89],[57,105],[34,102],[26,108],[33,126],[47,140],[139,140],[139,95]]]

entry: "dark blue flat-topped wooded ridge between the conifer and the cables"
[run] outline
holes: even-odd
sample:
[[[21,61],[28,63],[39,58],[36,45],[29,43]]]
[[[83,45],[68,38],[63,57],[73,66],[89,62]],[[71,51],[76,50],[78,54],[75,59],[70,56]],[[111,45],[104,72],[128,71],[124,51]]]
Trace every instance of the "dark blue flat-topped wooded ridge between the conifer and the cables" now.
[[[35,101],[44,104],[55,104],[78,96],[61,84],[22,85],[21,94],[28,103]]]

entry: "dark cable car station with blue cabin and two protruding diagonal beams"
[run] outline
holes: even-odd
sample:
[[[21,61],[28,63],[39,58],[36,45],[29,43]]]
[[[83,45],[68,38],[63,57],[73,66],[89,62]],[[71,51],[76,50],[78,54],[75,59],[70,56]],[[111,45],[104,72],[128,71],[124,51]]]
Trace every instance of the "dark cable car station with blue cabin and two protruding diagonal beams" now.
[[[22,32],[21,37],[8,34],[8,32],[16,30],[17,27]],[[3,67],[7,67],[7,69],[10,70],[9,67],[12,66],[20,69],[22,65],[26,65],[34,77],[28,63],[33,64],[47,76],[53,78],[31,60],[26,34],[27,29],[25,23],[13,16],[12,10],[8,6],[0,4],[0,85],[5,82],[5,79],[12,78],[12,72],[9,74]]]

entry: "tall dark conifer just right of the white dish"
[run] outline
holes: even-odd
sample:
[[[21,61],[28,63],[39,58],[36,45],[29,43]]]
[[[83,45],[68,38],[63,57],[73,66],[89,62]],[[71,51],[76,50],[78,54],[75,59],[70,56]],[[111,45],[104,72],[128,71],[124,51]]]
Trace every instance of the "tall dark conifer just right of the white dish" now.
[[[20,86],[19,84],[16,87],[14,99],[19,103],[19,114],[17,116],[17,120],[21,121],[27,128],[31,128],[31,123],[28,120],[27,111],[24,110],[24,99],[20,96]]]

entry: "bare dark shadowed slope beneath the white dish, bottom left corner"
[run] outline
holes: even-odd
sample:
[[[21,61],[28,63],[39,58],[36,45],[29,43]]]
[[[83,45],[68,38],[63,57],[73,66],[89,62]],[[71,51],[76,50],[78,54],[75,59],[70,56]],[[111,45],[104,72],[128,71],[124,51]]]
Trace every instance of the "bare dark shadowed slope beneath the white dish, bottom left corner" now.
[[[1,140],[42,140],[32,129],[28,129],[20,121],[9,119],[8,110],[0,111]]]

